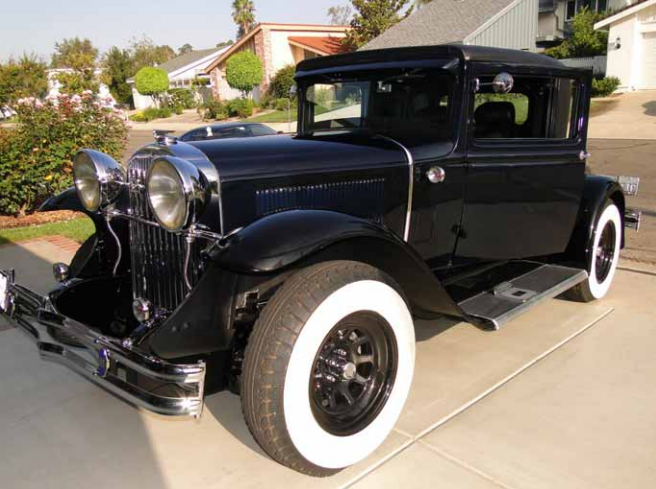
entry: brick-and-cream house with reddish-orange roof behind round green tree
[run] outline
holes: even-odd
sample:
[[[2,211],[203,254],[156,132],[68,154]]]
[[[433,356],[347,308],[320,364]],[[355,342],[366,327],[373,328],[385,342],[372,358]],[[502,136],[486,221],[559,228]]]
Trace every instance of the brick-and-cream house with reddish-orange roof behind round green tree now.
[[[347,26],[333,25],[258,24],[207,67],[214,96],[221,100],[241,96],[241,92],[230,88],[226,80],[226,63],[231,56],[249,50],[260,58],[264,79],[253,91],[253,98],[258,101],[281,68],[307,58],[344,52],[341,40],[348,29]]]

